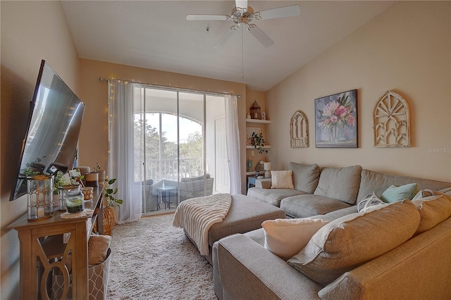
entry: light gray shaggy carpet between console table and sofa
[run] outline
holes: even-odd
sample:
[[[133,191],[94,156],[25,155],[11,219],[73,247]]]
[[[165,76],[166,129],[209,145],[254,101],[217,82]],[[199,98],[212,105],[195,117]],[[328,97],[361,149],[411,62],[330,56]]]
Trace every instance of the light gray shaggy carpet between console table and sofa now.
[[[213,270],[173,214],[116,225],[106,299],[217,299]]]

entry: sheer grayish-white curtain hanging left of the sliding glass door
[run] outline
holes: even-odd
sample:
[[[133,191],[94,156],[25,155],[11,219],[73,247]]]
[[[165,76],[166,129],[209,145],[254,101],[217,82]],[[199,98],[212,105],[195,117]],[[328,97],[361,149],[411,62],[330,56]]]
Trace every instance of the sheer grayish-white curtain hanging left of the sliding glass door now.
[[[119,206],[117,223],[141,218],[140,195],[133,194],[133,86],[123,80],[109,82],[109,178],[117,178]]]

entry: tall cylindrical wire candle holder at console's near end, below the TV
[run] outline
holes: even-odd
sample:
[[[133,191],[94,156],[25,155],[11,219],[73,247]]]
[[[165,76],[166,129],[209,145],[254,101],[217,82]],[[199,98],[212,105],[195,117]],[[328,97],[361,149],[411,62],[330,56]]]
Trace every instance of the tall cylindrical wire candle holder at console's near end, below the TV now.
[[[54,215],[54,177],[27,177],[28,220],[50,218]]]

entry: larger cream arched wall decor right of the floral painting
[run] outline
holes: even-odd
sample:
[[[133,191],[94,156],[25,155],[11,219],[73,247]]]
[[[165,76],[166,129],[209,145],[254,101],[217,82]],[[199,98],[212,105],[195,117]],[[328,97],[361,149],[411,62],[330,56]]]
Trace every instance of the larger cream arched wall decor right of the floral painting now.
[[[407,101],[386,92],[373,111],[373,142],[376,147],[409,147],[410,110]]]

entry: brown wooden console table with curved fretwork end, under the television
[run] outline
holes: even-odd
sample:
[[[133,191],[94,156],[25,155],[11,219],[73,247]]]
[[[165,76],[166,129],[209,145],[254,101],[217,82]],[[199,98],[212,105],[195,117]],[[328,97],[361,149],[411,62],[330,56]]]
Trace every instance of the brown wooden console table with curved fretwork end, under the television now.
[[[77,219],[63,219],[56,211],[51,218],[28,220],[27,213],[11,223],[8,228],[18,231],[20,242],[20,296],[19,299],[50,299],[52,269],[60,269],[64,277],[63,299],[68,293],[70,276],[66,267],[72,265],[72,299],[88,299],[88,256],[87,242],[94,223],[99,234],[103,234],[102,188],[94,187],[91,202],[85,208],[92,209],[92,215]],[[56,196],[58,202],[58,196]],[[66,234],[68,241],[63,242]],[[66,238],[67,239],[67,238]],[[44,270],[38,274],[38,266]],[[40,282],[38,282],[41,277]]]

